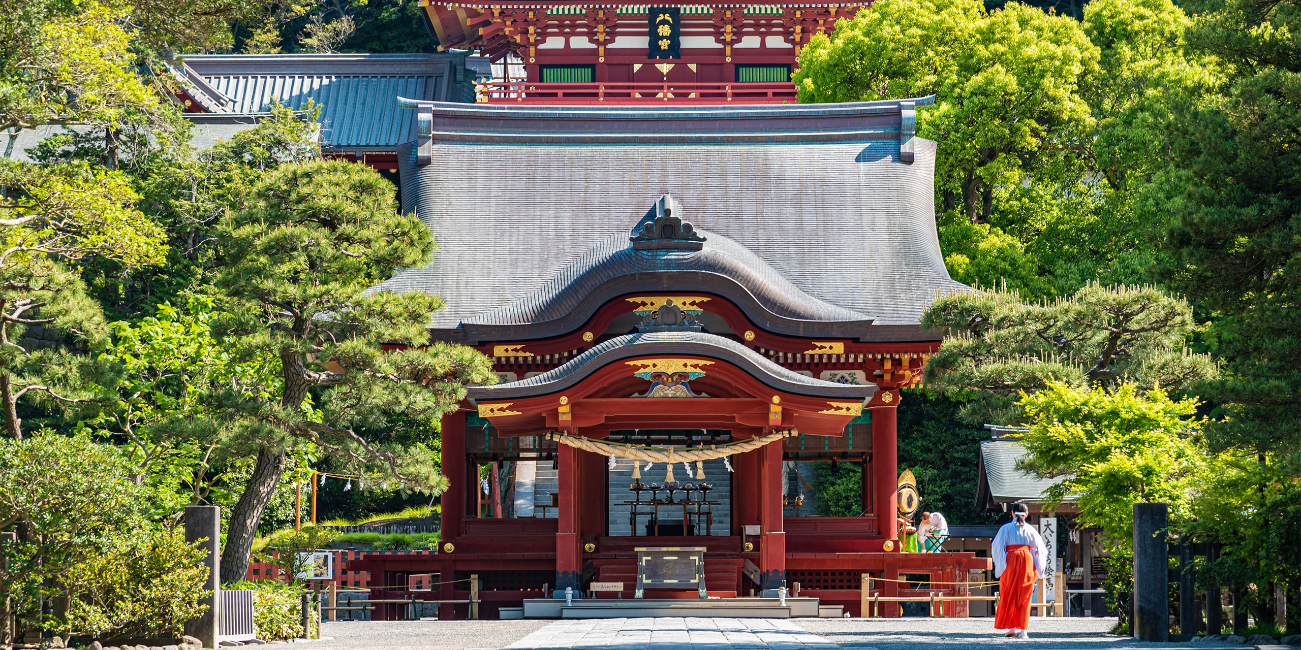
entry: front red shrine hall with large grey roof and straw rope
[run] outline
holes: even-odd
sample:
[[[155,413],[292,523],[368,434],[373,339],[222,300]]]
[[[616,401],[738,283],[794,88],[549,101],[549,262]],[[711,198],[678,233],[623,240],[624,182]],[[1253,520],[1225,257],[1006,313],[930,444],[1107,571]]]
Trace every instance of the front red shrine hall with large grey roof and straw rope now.
[[[939,344],[917,318],[961,289],[925,101],[406,101],[403,209],[440,248],[375,290],[441,295],[432,339],[492,356],[500,384],[442,420],[440,547],[349,566],[436,586],[372,598],[466,599],[477,576],[488,618],[600,582],[632,599],[645,547],[705,549],[723,598],[798,582],[860,614],[864,573],[882,597],[965,593],[986,559],[902,552],[895,525],[899,389]],[[847,468],[851,516],[820,516],[818,476]]]

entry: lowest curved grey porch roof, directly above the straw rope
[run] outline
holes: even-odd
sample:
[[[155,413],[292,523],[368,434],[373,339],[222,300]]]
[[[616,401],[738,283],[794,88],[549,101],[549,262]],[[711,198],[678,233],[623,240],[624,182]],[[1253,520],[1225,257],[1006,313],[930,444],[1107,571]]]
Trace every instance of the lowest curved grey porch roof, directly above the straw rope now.
[[[570,359],[569,363],[527,380],[472,386],[467,396],[479,399],[506,399],[544,395],[574,386],[592,372],[621,359],[658,354],[693,355],[719,359],[739,365],[764,384],[798,395],[817,395],[842,399],[868,399],[876,385],[848,385],[817,380],[788,370],[768,360],[758,352],[717,334],[703,332],[648,332],[626,334],[597,343],[591,350]]]

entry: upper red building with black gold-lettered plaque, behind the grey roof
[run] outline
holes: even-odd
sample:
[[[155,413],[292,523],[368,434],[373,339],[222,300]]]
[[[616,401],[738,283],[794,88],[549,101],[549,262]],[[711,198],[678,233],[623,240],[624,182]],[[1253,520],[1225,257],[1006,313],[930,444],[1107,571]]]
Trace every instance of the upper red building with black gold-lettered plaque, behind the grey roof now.
[[[794,103],[800,48],[864,6],[420,4],[440,47],[523,62],[524,78],[481,86],[481,100],[544,104]]]

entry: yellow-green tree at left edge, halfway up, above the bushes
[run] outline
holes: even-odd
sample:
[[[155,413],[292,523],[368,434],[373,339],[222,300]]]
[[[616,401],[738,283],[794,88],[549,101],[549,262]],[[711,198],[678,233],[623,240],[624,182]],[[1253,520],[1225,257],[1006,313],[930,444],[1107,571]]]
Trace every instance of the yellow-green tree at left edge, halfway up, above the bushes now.
[[[88,359],[51,335],[61,332],[90,344],[108,334],[103,311],[69,260],[99,256],[130,268],[157,264],[165,247],[117,172],[0,161],[0,187],[8,188],[0,195],[0,408],[5,432],[18,438],[23,396],[96,398]]]

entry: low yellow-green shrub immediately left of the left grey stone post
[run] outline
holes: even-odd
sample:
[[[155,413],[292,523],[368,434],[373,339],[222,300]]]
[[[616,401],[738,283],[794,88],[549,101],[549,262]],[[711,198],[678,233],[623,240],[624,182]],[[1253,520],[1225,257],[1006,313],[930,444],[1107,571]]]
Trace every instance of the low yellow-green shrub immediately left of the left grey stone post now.
[[[178,637],[207,610],[199,599],[208,578],[206,551],[181,530],[139,530],[107,552],[72,567],[68,630],[104,637]]]

